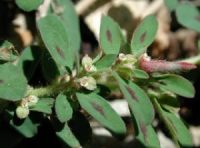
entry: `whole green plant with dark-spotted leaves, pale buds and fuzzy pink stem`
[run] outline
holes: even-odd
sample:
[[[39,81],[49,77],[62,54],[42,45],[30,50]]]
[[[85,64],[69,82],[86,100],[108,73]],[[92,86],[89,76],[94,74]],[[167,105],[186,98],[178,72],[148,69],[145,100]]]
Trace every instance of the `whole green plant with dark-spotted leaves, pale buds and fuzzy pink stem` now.
[[[40,3],[16,2],[26,11],[35,9],[33,3]],[[80,31],[73,5],[70,0],[57,0],[56,5],[62,7],[61,13],[55,14],[50,9],[47,16],[37,21],[45,47],[39,43],[30,46],[17,60],[13,59],[17,55],[13,56],[10,44],[5,42],[0,48],[8,51],[1,54],[0,111],[6,117],[1,120],[30,138],[37,134],[45,119],[63,143],[81,147],[91,132],[87,115],[115,136],[126,134],[124,121],[106,101],[108,93],[120,91],[129,104],[134,136],[143,146],[160,147],[152,126],[155,113],[177,147],[192,146],[191,135],[175,111],[179,107],[178,96],[192,98],[195,93],[192,84],[177,74],[196,66],[153,60],[147,55],[147,48],[156,36],[156,18],[152,15],[144,18],[129,44],[119,25],[103,16],[102,52],[94,59],[85,55],[80,62]],[[31,86],[30,80],[38,67],[42,69],[45,86]],[[78,136],[83,130],[79,134],[74,132],[72,123],[87,131],[84,136]],[[7,140],[14,143],[15,139]]]

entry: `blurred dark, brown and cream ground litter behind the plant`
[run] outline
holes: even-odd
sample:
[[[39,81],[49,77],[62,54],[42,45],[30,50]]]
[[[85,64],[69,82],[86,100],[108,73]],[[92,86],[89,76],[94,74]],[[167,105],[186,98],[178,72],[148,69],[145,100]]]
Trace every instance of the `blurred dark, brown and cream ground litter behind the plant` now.
[[[37,11],[24,12],[20,10],[14,0],[0,0],[0,41],[8,40],[15,45],[19,53],[33,44],[37,38],[36,19],[43,14],[50,0],[45,0]],[[169,11],[164,0],[72,0],[80,21],[81,49],[80,54],[93,55],[99,51],[99,29],[102,15],[109,15],[117,21],[128,40],[131,39],[136,26],[149,14],[154,14],[159,22],[159,29],[153,44],[149,48],[149,55],[154,59],[179,60],[198,55],[200,34],[187,29],[178,23],[175,12]],[[190,0],[200,11],[200,0]],[[185,10],[187,11],[187,10]],[[39,72],[38,72],[39,75]],[[196,89],[193,99],[180,98],[180,116],[189,125],[195,147],[200,147],[200,70],[199,68],[183,76],[191,80]],[[36,79],[37,81],[37,79]],[[42,83],[42,82],[41,82]],[[88,147],[95,148],[131,148],[137,147],[133,137],[128,105],[118,96],[108,98],[112,107],[124,118],[128,127],[128,134],[123,140],[117,140],[97,122],[91,120],[93,127],[92,141]],[[159,119],[154,123],[162,148],[173,148],[165,128]],[[48,132],[44,127],[41,132]],[[56,142],[43,136],[24,140],[20,147],[37,147],[36,139],[43,141],[45,146],[55,146]]]

